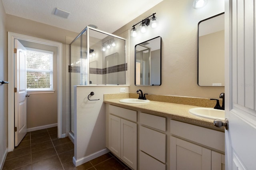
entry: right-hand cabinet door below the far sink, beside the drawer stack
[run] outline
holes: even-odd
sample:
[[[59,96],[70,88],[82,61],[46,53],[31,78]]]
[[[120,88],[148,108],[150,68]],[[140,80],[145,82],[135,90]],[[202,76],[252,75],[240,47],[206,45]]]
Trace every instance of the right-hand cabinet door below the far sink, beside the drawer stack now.
[[[137,169],[137,124],[121,119],[121,157],[124,162]]]

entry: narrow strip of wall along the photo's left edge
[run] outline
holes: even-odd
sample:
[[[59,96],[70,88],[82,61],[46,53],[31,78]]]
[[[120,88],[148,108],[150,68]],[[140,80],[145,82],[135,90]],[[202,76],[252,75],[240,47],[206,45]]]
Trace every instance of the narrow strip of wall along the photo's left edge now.
[[[7,81],[7,34],[5,32],[5,13],[0,1],[0,80]],[[0,84],[0,169],[7,148],[7,84]]]

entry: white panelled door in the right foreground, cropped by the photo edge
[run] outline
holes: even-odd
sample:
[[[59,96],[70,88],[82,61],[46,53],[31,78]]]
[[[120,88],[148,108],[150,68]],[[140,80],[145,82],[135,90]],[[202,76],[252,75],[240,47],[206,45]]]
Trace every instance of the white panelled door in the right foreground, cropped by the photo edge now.
[[[226,170],[256,169],[255,9],[255,0],[225,0]]]

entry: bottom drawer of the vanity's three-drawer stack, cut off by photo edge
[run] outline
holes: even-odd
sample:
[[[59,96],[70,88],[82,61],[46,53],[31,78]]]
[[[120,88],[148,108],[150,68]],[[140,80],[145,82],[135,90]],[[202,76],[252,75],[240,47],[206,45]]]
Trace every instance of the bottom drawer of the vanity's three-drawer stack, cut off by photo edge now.
[[[140,151],[140,170],[165,170],[166,165]]]

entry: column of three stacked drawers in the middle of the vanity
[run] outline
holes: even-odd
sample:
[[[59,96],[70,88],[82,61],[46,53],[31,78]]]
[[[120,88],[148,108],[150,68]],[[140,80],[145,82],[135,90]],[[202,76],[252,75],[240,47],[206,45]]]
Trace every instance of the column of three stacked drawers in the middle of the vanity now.
[[[140,113],[140,170],[166,170],[166,118]]]

